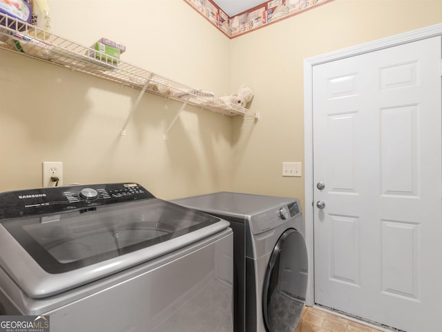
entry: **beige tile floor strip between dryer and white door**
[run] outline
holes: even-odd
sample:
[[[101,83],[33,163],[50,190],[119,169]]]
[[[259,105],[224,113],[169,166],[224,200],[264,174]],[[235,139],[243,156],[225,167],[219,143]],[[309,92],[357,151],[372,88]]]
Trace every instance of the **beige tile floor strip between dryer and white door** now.
[[[306,306],[295,332],[381,332],[326,311]]]

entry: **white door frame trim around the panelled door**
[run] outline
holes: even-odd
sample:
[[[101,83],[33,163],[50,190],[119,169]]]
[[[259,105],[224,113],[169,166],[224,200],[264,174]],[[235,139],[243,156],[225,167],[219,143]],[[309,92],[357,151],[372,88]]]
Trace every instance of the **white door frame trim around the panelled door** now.
[[[304,59],[304,157],[305,157],[305,241],[307,244],[307,254],[309,255],[309,282],[307,286],[306,304],[313,306],[314,301],[314,183],[313,183],[313,68],[318,64],[361,55],[363,53],[373,52],[392,46],[416,42],[421,39],[436,37],[442,35],[442,24],[428,26],[412,30],[407,33],[401,33],[392,37],[378,39],[374,42],[368,42],[336,50],[331,53],[325,53],[316,57]],[[442,46],[441,46],[442,47]],[[442,60],[441,60],[442,61]],[[442,75],[442,73],[441,73]]]

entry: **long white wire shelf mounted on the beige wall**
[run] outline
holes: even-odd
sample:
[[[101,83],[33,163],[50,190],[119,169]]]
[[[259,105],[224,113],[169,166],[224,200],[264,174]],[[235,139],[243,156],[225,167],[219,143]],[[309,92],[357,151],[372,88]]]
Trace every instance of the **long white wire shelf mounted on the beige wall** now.
[[[224,116],[242,115],[258,119],[258,112],[226,102],[210,91],[193,89],[104,53],[101,53],[101,59],[95,59],[90,57],[90,54],[99,53],[97,50],[48,33],[1,12],[0,48],[73,71],[101,77],[123,86],[187,102]]]

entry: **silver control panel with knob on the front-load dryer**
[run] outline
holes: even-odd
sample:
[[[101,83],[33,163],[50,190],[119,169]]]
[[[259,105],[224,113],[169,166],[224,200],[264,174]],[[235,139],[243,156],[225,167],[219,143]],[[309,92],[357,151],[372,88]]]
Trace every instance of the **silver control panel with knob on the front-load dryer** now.
[[[298,214],[300,214],[298,200],[258,213],[250,217],[252,232],[253,234],[266,232],[282,225],[282,223],[287,223]]]

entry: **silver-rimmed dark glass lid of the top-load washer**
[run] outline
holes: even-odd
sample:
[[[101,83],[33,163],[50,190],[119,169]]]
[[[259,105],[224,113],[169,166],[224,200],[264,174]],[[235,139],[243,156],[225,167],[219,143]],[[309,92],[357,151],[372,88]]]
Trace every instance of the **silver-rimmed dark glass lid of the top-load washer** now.
[[[46,297],[228,226],[215,216],[155,198],[3,219],[0,268],[31,297]]]

